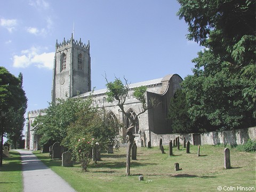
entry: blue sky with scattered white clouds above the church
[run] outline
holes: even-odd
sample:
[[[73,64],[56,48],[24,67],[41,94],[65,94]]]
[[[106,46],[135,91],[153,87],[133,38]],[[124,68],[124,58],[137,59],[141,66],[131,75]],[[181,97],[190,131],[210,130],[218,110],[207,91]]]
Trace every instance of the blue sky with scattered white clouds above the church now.
[[[92,87],[105,88],[125,76],[136,83],[191,74],[191,59],[202,50],[186,39],[187,24],[169,0],[1,0],[1,66],[18,76],[28,109],[46,108],[51,101],[55,42],[90,40]]]

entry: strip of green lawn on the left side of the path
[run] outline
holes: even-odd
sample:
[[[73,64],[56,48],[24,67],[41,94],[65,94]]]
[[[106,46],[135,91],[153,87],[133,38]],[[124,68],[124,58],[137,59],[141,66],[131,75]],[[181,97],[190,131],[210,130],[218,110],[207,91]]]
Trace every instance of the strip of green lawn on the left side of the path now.
[[[12,150],[9,153],[10,157],[4,157],[0,167],[0,191],[23,191],[20,154]]]

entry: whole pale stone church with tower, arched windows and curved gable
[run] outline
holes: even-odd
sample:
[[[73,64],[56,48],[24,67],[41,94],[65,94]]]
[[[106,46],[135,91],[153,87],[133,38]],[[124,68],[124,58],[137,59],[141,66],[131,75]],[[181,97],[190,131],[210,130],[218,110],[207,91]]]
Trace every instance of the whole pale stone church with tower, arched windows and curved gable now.
[[[180,89],[182,78],[177,75],[166,75],[162,78],[151,79],[149,81],[133,83],[129,86],[129,94],[126,98],[125,110],[132,117],[139,113],[141,103],[133,97],[134,87],[146,86],[147,101],[150,98],[157,98],[159,105],[149,109],[146,113],[141,114],[137,119],[137,124],[134,129],[135,141],[137,146],[146,146],[151,140],[152,135],[162,135],[172,133],[170,121],[167,119],[167,110],[169,102],[175,91]],[[91,57],[90,57],[90,42],[83,44],[81,38],[78,41],[74,40],[73,34],[62,43],[56,42],[53,78],[52,78],[52,101],[57,98],[86,98],[90,94],[93,95],[93,104],[99,107],[105,107],[108,113],[108,119],[122,122],[126,127],[129,127],[130,122],[125,117],[117,106],[117,102],[109,103],[106,101],[106,91],[91,90]],[[33,110],[28,112],[26,133],[25,133],[25,148],[37,150],[41,147],[38,144],[40,139],[37,135],[37,127],[31,126],[38,115],[43,115],[44,109]],[[125,129],[119,130],[119,135],[125,141]]]

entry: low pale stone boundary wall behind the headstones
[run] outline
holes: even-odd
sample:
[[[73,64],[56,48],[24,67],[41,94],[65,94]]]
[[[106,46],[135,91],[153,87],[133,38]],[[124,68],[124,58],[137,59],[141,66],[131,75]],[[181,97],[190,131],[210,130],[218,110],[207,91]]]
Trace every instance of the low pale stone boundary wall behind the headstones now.
[[[208,133],[188,134],[155,134],[151,132],[151,146],[159,146],[161,139],[163,145],[169,145],[169,141],[174,140],[177,137],[180,138],[180,143],[183,143],[185,137],[186,142],[189,141],[192,145],[217,145],[220,143],[227,145],[241,145],[248,139],[256,139],[256,127],[234,131],[213,131]]]

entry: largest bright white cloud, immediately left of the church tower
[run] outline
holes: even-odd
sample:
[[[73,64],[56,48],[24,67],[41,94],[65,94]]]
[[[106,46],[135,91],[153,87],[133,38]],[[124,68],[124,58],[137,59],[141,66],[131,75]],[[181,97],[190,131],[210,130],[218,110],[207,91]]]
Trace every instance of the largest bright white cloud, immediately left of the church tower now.
[[[22,50],[22,55],[13,56],[13,67],[27,68],[34,65],[38,68],[52,69],[54,52],[40,53],[40,47],[31,47],[28,50]]]

